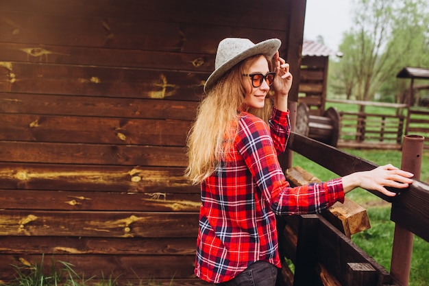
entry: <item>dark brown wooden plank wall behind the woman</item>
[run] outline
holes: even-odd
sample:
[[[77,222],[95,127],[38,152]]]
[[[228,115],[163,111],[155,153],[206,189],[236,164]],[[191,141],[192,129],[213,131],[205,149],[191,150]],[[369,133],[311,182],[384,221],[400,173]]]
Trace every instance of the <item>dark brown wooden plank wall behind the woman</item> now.
[[[280,38],[296,69],[290,21],[304,10],[0,0],[0,279],[43,254],[86,277],[193,278],[199,188],[182,177],[184,145],[217,43]]]

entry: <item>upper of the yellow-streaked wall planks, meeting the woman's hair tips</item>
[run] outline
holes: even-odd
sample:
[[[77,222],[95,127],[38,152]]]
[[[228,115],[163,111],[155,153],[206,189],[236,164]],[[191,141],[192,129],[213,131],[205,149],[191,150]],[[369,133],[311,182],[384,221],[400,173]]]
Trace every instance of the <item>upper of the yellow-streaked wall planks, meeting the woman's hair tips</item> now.
[[[0,163],[5,189],[120,193],[199,193],[183,176],[184,167]]]

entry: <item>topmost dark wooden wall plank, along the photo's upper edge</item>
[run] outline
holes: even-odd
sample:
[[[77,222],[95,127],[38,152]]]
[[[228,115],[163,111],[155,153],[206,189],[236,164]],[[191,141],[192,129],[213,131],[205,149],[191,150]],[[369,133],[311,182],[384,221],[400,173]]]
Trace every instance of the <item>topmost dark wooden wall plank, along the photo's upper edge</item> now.
[[[92,0],[90,3],[84,0],[75,1],[56,1],[44,0],[43,5],[38,1],[20,0],[14,1],[1,0],[0,10],[35,12],[40,14],[60,14],[63,16],[85,16],[85,17],[109,17],[109,18],[128,18],[128,19],[153,19],[159,21],[175,21],[184,23],[199,24],[217,24],[236,27],[254,27],[265,29],[284,29],[283,21],[286,9],[284,5],[278,5],[278,0],[267,0],[267,5],[276,9],[270,12],[265,23],[254,21],[247,15],[252,15],[260,11],[260,3],[245,0],[219,0],[216,3],[206,1],[181,1],[175,0],[163,1],[129,1],[127,5],[119,5],[118,2],[106,0]],[[282,1],[281,3],[284,3]],[[240,13],[236,13],[240,9]],[[201,13],[201,11],[210,11],[210,13]]]

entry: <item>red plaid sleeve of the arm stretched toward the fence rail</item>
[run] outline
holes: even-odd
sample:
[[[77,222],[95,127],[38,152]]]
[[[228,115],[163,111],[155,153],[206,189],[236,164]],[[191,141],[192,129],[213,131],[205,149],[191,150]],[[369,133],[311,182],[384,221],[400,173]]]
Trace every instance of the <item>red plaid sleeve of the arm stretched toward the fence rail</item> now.
[[[239,130],[241,141],[237,143],[238,152],[256,180],[258,189],[276,214],[320,213],[336,201],[343,202],[341,178],[320,184],[290,187],[278,163],[278,152],[271,134],[262,120],[243,117]]]

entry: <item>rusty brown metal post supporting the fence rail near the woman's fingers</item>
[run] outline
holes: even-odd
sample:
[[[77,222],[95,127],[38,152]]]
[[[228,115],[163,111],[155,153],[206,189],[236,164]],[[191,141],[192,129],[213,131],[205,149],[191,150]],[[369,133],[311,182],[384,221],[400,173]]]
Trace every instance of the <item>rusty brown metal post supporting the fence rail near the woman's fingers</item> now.
[[[424,136],[406,135],[402,143],[401,169],[420,179],[421,158],[423,157]],[[411,256],[413,254],[414,235],[399,224],[395,224],[391,260],[391,274],[404,286],[410,278]]]

